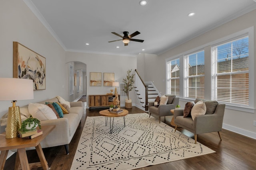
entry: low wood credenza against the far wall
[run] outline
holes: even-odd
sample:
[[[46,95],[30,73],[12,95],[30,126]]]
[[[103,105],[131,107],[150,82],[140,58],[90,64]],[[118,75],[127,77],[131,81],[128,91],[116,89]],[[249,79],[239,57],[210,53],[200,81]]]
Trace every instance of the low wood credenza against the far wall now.
[[[96,94],[89,95],[89,109],[91,107],[108,107],[110,104],[113,104],[115,95],[106,95],[106,94]],[[120,101],[120,94],[118,95]]]

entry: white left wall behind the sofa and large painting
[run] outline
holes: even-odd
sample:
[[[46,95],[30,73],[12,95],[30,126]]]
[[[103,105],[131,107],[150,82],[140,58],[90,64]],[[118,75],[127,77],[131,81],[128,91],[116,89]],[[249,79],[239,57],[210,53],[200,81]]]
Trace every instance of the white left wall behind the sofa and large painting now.
[[[33,100],[20,100],[17,106],[39,102],[57,95],[68,98],[65,74],[65,51],[22,0],[0,1],[0,77],[12,78],[13,41],[46,58],[46,90],[34,91]],[[64,88],[62,88],[64,86]],[[0,101],[0,117],[12,106]],[[0,133],[4,127],[0,127]]]

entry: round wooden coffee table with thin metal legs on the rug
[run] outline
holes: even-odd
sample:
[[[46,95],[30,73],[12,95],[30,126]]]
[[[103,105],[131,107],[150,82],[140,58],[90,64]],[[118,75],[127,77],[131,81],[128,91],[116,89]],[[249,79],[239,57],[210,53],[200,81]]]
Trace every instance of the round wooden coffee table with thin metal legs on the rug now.
[[[113,125],[114,125],[114,118],[115,117],[124,117],[124,127],[125,127],[125,116],[128,115],[129,112],[126,109],[122,109],[122,110],[123,110],[123,112],[119,113],[119,114],[110,113],[109,109],[100,111],[100,115],[106,117],[106,120],[105,120],[105,125],[106,126],[108,124],[108,117],[110,118],[110,134],[112,134],[112,132],[113,132]],[[111,117],[113,117],[112,123],[111,123]]]

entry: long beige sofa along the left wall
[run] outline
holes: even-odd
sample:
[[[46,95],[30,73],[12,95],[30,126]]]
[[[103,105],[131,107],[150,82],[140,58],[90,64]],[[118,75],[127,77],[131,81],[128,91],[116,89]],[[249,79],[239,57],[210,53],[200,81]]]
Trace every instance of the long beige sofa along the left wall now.
[[[59,102],[58,98],[48,99],[39,104],[45,104],[45,102]],[[28,106],[23,106],[28,107]],[[82,115],[85,113],[82,102],[70,102],[68,114],[64,114],[64,117],[59,119],[43,120],[41,126],[55,125],[52,132],[40,143],[42,148],[55,147],[64,145],[66,153],[69,154],[68,144],[72,140],[77,127],[80,125]],[[35,149],[34,147],[27,148],[26,150]],[[16,150],[12,150],[16,152]]]

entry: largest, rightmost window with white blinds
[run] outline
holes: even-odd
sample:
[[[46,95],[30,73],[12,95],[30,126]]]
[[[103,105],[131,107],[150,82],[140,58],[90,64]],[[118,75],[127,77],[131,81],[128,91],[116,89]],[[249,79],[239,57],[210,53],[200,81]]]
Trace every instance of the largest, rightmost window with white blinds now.
[[[212,100],[248,106],[248,36],[212,47]]]

